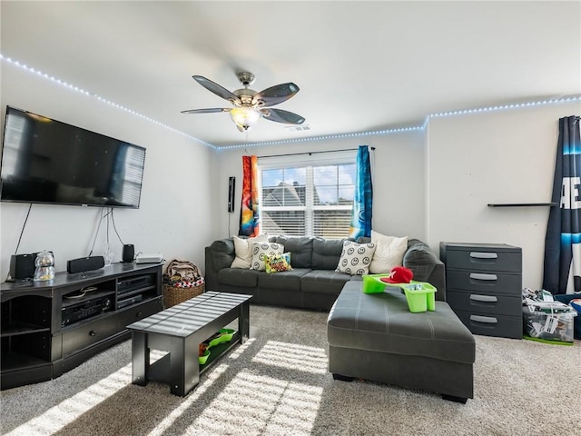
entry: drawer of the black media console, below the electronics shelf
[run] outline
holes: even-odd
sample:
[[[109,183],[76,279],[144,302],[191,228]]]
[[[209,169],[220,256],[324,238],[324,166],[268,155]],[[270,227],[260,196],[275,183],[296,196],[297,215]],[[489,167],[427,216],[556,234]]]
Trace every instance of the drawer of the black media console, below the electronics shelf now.
[[[100,316],[98,320],[84,322],[73,330],[63,332],[63,357],[104,341],[119,332],[114,316]]]

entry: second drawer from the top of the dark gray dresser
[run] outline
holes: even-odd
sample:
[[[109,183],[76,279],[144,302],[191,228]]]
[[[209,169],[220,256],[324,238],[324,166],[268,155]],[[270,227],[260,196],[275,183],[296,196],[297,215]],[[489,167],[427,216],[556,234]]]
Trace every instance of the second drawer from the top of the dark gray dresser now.
[[[476,291],[488,294],[521,295],[522,275],[502,272],[446,270],[447,291]]]

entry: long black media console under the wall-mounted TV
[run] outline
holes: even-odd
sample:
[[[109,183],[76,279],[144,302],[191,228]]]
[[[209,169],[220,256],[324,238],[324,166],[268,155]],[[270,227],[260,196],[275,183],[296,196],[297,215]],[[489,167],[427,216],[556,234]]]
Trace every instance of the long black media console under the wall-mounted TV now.
[[[1,389],[48,381],[131,337],[125,326],[162,310],[161,263],[57,272],[3,282]]]

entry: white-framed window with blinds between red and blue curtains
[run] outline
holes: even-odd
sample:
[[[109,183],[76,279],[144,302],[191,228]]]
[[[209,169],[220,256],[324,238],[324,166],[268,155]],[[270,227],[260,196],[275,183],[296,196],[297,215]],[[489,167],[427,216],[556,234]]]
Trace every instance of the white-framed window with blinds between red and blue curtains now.
[[[341,153],[301,163],[259,159],[261,233],[348,237],[355,153]]]

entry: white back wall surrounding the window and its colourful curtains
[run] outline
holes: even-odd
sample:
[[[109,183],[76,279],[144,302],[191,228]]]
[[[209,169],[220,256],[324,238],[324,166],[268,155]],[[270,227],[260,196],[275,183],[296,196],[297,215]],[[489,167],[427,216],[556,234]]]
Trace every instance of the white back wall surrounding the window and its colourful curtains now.
[[[218,202],[218,233],[224,238],[238,233],[242,183],[242,157],[271,156],[344,150],[359,145],[375,147],[373,168],[373,229],[392,236],[423,239],[424,233],[424,134],[421,131],[369,135],[293,144],[251,146],[223,150],[216,154],[217,177],[214,186]],[[304,158],[304,156],[299,156]],[[320,154],[317,155],[317,158]],[[228,177],[236,177],[234,213],[227,213]],[[229,223],[230,219],[230,223]]]

